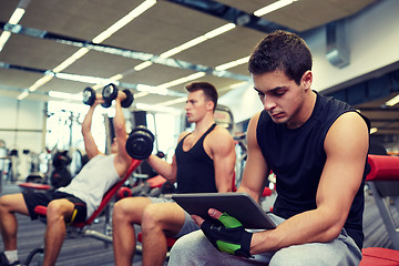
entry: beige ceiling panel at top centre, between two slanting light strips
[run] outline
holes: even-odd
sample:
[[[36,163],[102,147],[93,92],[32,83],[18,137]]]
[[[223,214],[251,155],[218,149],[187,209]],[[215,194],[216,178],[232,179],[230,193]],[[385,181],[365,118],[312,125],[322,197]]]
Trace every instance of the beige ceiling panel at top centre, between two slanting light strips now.
[[[225,23],[222,19],[160,1],[104,43],[161,54]]]

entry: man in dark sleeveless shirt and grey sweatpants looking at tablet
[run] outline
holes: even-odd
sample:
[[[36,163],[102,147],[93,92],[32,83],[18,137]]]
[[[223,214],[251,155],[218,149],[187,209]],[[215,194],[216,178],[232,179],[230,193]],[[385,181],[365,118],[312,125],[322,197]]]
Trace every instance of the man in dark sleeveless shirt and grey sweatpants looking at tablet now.
[[[211,242],[202,232],[180,238],[170,265],[248,265],[252,260],[270,266],[358,265],[368,120],[348,104],[310,89],[311,54],[296,34],[267,34],[252,53],[248,69],[264,111],[248,125],[248,158],[237,192],[258,201],[273,170],[277,198],[269,216],[278,226],[258,233],[236,229],[219,237],[224,227],[206,225]],[[218,211],[209,214],[225,218]],[[203,223],[201,217],[195,221]]]

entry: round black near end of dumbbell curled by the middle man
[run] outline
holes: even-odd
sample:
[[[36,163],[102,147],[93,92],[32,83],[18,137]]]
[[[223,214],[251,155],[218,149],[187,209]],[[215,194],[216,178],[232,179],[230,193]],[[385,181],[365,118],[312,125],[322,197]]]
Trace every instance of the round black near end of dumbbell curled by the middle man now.
[[[132,130],[126,141],[126,152],[132,158],[144,160],[149,157],[154,147],[154,135],[144,125]]]

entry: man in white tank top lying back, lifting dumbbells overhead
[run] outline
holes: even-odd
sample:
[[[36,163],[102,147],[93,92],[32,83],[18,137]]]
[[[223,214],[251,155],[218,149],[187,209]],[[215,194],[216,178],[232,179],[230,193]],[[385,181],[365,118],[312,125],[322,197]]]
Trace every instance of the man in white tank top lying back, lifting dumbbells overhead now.
[[[127,135],[121,108],[124,98],[125,94],[119,92],[115,99],[115,139],[111,146],[111,155],[104,155],[99,151],[91,133],[94,109],[103,102],[102,98],[98,96],[82,123],[85,151],[90,161],[72,182],[66,187],[55,191],[19,193],[0,198],[0,231],[6,249],[0,255],[0,265],[20,264],[17,254],[16,213],[35,219],[37,205],[48,206],[43,265],[55,265],[66,233],[65,223],[85,222],[99,207],[105,192],[126,172],[132,158],[125,151]]]

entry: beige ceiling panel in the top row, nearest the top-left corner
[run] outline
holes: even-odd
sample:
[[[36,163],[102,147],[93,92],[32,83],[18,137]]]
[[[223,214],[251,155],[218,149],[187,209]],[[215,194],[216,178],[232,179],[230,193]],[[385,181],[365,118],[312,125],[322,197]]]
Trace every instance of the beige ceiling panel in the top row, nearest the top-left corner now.
[[[141,2],[140,0],[33,0],[30,1],[20,23],[30,28],[91,40]]]

